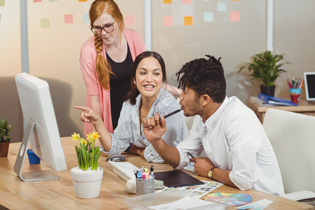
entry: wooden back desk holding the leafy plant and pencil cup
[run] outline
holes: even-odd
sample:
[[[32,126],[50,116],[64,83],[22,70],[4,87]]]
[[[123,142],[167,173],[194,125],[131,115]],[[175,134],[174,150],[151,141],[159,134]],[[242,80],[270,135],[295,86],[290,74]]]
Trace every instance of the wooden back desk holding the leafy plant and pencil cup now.
[[[264,121],[267,109],[281,109],[284,111],[302,113],[308,116],[315,116],[315,104],[311,104],[305,100],[300,100],[298,106],[261,106],[248,99],[246,105],[256,113],[261,123]]]

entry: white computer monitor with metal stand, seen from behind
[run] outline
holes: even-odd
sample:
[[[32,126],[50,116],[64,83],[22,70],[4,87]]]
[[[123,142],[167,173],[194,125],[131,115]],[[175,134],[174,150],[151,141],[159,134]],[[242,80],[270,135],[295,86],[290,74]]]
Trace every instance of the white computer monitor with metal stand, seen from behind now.
[[[48,83],[29,73],[16,74],[15,83],[22,107],[25,132],[14,171],[22,181],[59,179],[55,172],[66,170],[66,160]],[[50,170],[22,173],[29,143],[32,151],[51,168]]]

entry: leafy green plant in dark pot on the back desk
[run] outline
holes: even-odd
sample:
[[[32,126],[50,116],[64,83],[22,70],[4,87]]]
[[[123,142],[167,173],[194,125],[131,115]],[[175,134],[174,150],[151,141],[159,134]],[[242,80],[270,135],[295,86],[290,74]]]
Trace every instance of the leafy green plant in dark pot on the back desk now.
[[[258,79],[262,82],[260,85],[260,91],[262,94],[268,94],[274,96],[274,81],[280,73],[286,72],[283,69],[283,64],[290,64],[289,62],[281,62],[283,59],[283,54],[276,55],[271,51],[260,52],[251,57],[253,62],[246,63],[244,66],[241,66],[237,73],[241,72],[243,69],[248,69],[250,73],[249,76],[252,76],[252,80]]]

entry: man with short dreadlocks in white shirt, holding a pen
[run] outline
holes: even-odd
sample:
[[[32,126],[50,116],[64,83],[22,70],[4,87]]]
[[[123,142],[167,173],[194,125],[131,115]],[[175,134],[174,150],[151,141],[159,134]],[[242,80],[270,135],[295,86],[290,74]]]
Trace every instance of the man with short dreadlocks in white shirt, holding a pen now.
[[[181,109],[196,116],[193,127],[178,146],[169,146],[162,134],[165,119],[155,113],[143,120],[146,139],[175,169],[195,162],[195,172],[240,190],[251,188],[284,194],[281,173],[272,145],[255,113],[237,97],[225,95],[220,59],[194,59],[176,73]],[[207,157],[198,157],[202,151]]]

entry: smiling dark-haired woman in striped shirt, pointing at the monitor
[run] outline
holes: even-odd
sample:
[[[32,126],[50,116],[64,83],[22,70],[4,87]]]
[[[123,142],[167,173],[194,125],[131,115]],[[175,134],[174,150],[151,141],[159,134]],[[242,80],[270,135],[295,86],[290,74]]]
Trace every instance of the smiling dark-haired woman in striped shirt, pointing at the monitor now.
[[[166,83],[165,62],[158,52],[146,51],[134,59],[131,69],[131,88],[127,99],[120,111],[118,126],[111,134],[96,112],[84,106],[74,106],[80,109],[80,120],[94,125],[101,136],[101,150],[109,155],[123,153],[130,144],[129,153],[144,157],[148,162],[164,162],[153,146],[146,141],[142,130],[142,119],[159,113],[165,116],[179,109],[172,94],[162,88]],[[182,113],[176,113],[166,119],[167,132],[163,135],[164,141],[176,146],[187,133]]]

